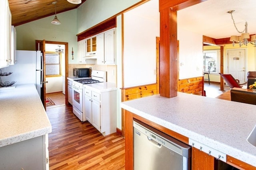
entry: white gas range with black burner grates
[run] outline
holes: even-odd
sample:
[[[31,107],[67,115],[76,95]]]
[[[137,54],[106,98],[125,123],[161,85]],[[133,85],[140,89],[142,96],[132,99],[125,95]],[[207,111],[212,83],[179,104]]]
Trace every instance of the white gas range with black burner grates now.
[[[73,113],[81,120],[86,121],[83,113],[84,104],[84,85],[92,83],[106,82],[106,71],[92,70],[92,78],[74,80],[72,83],[72,102]]]

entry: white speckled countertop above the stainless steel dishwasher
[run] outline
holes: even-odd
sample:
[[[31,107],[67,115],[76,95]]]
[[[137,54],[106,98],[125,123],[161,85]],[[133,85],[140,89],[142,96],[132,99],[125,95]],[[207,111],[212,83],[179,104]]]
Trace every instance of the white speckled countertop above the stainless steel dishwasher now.
[[[256,106],[180,93],[122,102],[122,108],[194,141],[256,166],[256,147],[246,138],[256,125]]]

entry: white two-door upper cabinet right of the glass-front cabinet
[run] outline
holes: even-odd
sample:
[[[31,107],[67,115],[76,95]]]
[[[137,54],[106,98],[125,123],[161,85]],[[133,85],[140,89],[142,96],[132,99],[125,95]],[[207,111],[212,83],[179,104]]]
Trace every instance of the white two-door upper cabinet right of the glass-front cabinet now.
[[[97,35],[97,64],[115,64],[115,29]]]

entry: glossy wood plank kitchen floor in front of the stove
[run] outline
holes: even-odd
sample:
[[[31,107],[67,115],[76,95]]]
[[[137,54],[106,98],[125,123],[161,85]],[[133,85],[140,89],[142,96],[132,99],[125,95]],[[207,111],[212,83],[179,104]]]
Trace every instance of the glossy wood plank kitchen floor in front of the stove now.
[[[47,108],[46,113],[52,124],[50,170],[125,169],[125,142],[119,134],[102,136],[88,121],[81,122],[71,105]]]

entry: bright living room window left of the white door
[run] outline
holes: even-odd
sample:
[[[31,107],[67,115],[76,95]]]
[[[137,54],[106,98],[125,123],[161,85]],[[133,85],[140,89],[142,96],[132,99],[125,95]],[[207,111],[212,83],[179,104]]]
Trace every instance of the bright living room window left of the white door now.
[[[206,50],[204,51],[204,72],[218,73],[220,72],[220,50]]]

